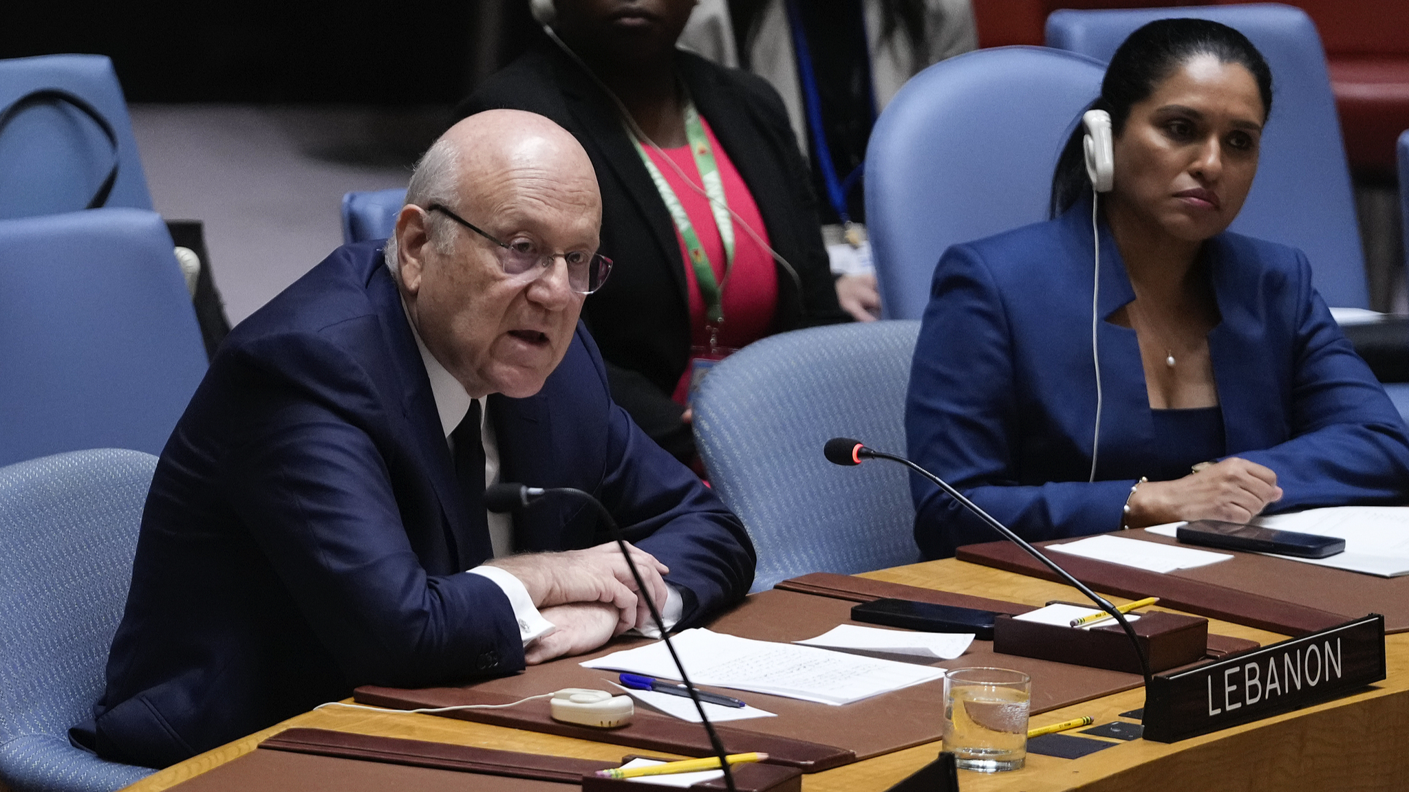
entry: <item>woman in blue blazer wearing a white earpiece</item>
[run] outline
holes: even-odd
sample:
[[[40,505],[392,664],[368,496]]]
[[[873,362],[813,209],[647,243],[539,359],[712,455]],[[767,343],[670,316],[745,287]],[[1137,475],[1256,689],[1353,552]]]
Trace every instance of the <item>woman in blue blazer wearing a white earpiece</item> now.
[[[1053,220],[940,259],[913,459],[1029,540],[1409,499],[1405,424],[1306,256],[1224,231],[1271,97],[1261,54],[1217,23],[1126,39],[1093,104],[1113,134],[1109,192],[1092,190],[1078,125]],[[912,481],[926,557],[996,538]]]

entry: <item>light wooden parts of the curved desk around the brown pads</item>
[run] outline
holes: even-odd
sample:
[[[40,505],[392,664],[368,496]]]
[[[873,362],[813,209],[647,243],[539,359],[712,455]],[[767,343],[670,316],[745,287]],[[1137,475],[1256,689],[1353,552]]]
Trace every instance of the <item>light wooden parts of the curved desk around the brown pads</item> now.
[[[864,576],[1030,605],[1081,596],[1064,585],[952,558],[869,572]],[[1112,599],[1123,602],[1119,598]],[[1261,644],[1285,637],[1227,621],[1210,621],[1209,630],[1251,638]],[[1136,740],[1079,760],[1029,754],[1027,767],[1020,771],[993,775],[961,771],[960,786],[965,792],[1403,789],[1409,786],[1409,751],[1403,750],[1403,740],[1409,736],[1409,633],[1389,636],[1386,650],[1388,678],[1354,696],[1171,745]],[[1033,719],[1033,726],[1082,714],[1093,716],[1096,723],[1107,723],[1116,714],[1143,703],[1143,691],[1129,691],[1040,714]],[[936,717],[941,714],[936,713]],[[620,745],[431,714],[328,707],[299,714],[258,734],[207,751],[128,789],[132,792],[166,789],[252,751],[265,737],[292,726],[609,761],[628,753]],[[933,743],[806,775],[803,789],[806,792],[885,789],[933,760],[938,750],[940,743]]]

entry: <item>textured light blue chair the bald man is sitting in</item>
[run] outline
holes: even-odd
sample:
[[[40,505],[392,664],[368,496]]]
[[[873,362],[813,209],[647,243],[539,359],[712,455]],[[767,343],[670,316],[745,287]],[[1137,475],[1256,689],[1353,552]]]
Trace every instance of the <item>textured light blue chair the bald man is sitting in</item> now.
[[[152,772],[68,730],[103,695],[155,466],[101,448],[0,468],[0,788],[106,792]]]

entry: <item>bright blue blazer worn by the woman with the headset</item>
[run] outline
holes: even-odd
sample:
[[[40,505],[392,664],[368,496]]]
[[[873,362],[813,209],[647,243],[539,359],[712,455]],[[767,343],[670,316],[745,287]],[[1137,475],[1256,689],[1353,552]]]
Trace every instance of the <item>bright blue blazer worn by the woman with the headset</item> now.
[[[1355,355],[1293,248],[1224,233],[1205,244],[1222,321],[1209,333],[1226,455],[1277,472],[1268,513],[1409,497],[1399,413]],[[910,390],[910,457],[1020,536],[1119,530],[1150,472],[1154,426],[1140,347],[1110,314],[1134,299],[1100,227],[1100,451],[1091,474],[1091,202],[1057,220],[955,245],[934,271]],[[912,479],[927,558],[998,538],[936,486]]]

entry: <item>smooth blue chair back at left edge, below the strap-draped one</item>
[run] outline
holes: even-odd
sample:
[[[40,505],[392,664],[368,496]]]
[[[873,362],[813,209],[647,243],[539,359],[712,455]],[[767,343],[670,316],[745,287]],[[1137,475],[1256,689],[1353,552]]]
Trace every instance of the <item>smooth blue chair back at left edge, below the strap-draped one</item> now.
[[[0,465],[161,452],[206,372],[172,251],[139,209],[0,220]]]

